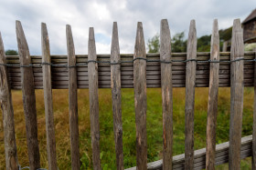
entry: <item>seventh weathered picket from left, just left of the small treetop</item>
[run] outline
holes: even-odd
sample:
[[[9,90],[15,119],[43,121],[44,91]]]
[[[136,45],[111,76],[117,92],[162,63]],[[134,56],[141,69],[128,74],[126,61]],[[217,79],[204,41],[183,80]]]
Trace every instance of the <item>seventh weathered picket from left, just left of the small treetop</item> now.
[[[143,24],[138,22],[133,58],[146,58]],[[146,169],[146,61],[140,59],[133,63],[134,103],[136,124],[136,164],[138,170]]]

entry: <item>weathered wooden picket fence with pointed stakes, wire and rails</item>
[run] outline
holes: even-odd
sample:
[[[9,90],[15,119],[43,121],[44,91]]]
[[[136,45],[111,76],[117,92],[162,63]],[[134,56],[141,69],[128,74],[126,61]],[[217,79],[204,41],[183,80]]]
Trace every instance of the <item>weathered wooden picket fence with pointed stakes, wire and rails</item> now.
[[[89,31],[88,55],[75,55],[67,25],[68,55],[50,55],[47,26],[42,24],[42,56],[30,56],[22,25],[16,21],[19,56],[5,56],[0,35],[0,98],[5,131],[6,169],[18,169],[14,110],[11,89],[22,89],[30,169],[40,167],[37,141],[35,89],[44,89],[48,169],[57,170],[52,88],[69,88],[69,131],[72,169],[80,169],[77,89],[89,88],[93,168],[101,169],[99,88],[112,88],[113,132],[117,169],[123,169],[121,88],[134,88],[136,167],[130,169],[214,169],[229,162],[240,169],[240,159],[252,155],[256,169],[256,111],[253,135],[241,138],[243,88],[255,84],[256,53],[244,53],[240,19],[234,20],[231,52],[219,53],[218,21],[214,20],[210,53],[197,53],[196,22],[190,23],[187,53],[171,53],[167,20],[161,21],[160,54],[146,54],[142,23],[137,25],[133,55],[120,55],[117,24],[113,23],[111,55],[97,55],[93,28]],[[195,87],[209,87],[207,147],[194,151]],[[216,145],[218,90],[230,86],[229,142]],[[163,160],[147,164],[146,88],[162,88]],[[173,87],[186,87],[185,154],[172,155]],[[256,90],[255,90],[256,93]],[[256,96],[256,94],[255,94]],[[256,105],[254,100],[254,107]]]

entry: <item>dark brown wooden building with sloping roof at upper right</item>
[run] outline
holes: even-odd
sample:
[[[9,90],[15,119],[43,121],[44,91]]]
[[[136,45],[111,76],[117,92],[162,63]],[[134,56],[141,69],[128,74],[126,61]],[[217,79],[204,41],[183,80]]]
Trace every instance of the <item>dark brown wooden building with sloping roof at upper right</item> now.
[[[244,43],[256,43],[256,8],[242,22]]]

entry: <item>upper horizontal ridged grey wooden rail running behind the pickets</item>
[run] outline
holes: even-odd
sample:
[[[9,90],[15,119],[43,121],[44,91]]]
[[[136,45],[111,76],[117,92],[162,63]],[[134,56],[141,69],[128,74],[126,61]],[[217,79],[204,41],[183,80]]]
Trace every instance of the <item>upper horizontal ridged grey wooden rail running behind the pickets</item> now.
[[[209,59],[210,53],[197,53],[197,60],[206,61]],[[244,54],[245,59],[254,59],[255,52],[247,52]],[[77,63],[88,61],[88,55],[76,55]],[[97,55],[98,61],[110,61],[110,55]],[[41,63],[41,56],[31,56],[32,64]],[[159,54],[147,54],[147,59],[159,60]],[[186,60],[186,53],[173,53],[173,60]],[[230,60],[229,52],[220,53],[221,60]],[[133,54],[121,55],[122,61],[132,61]],[[67,55],[51,55],[51,62],[53,64],[67,64]],[[18,56],[6,56],[7,64],[19,64]],[[21,89],[21,74],[20,68],[11,66],[8,67],[10,85],[12,89]],[[111,87],[111,65],[99,64],[99,88]],[[35,88],[43,88],[43,75],[41,67],[34,67],[34,81]],[[52,67],[52,87],[55,89],[68,89],[69,88],[69,74],[68,68],[65,67]],[[244,62],[244,85],[253,86],[254,81],[254,63]],[[186,84],[186,64],[173,63],[172,64],[172,79],[174,87],[185,87]],[[79,66],[77,68],[78,88],[88,88],[88,67]],[[209,82],[209,63],[197,63],[196,71],[196,86],[207,87]],[[121,87],[133,88],[133,63],[125,63],[121,65]],[[146,84],[147,87],[161,87],[161,66],[159,62],[148,62],[146,64]],[[219,64],[219,86],[230,86],[230,64]]]

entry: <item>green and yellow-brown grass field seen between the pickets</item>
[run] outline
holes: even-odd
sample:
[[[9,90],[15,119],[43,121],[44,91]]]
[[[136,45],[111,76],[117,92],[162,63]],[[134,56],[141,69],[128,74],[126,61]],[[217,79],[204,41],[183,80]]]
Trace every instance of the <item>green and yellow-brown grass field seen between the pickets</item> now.
[[[174,155],[184,153],[185,141],[185,88],[173,91],[174,120]],[[16,145],[19,164],[28,165],[25,119],[21,91],[12,91],[15,111]],[[46,127],[44,114],[44,96],[42,90],[37,95],[38,141],[41,155],[41,166],[48,168]],[[101,128],[101,167],[115,169],[114,139],[112,132],[112,93],[111,89],[99,90],[100,128]],[[217,142],[229,141],[229,88],[219,88],[219,115]],[[122,89],[123,109],[123,154],[125,168],[136,164],[135,152],[135,115],[133,89]],[[80,89],[78,93],[79,128],[80,128],[80,161],[81,169],[91,169],[91,135],[89,116],[89,91]],[[54,116],[57,142],[57,159],[59,169],[70,168],[69,145],[69,101],[68,90],[53,90]],[[245,88],[242,135],[251,135],[253,88]],[[195,101],[195,149],[206,145],[208,88],[196,88]],[[161,89],[147,89],[147,145],[148,162],[162,157],[162,101]],[[5,150],[3,121],[0,117],[0,169],[5,169]],[[217,169],[226,169],[228,165],[219,165]],[[241,169],[251,169],[251,158],[241,162]]]

